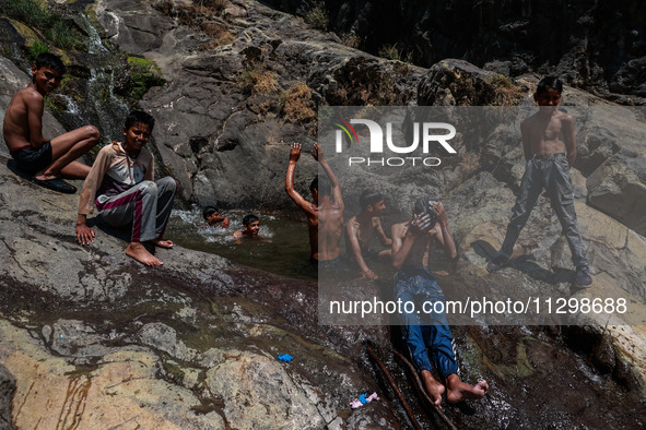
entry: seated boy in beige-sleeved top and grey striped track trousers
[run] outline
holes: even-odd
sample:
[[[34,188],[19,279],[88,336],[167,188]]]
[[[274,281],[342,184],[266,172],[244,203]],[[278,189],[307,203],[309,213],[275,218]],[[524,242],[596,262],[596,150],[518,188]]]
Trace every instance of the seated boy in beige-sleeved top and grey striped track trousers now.
[[[171,177],[154,181],[153,155],[144,147],[154,123],[153,117],[142,111],[128,115],[124,142],[103,147],[92,165],[81,192],[77,220],[77,239],[82,244],[94,241],[94,230],[87,227],[86,218],[95,205],[110,226],[132,223],[132,239],[126,254],[149,266],[164,263],[142,242],[173,248],[173,242],[162,237],[177,190],[177,182]]]

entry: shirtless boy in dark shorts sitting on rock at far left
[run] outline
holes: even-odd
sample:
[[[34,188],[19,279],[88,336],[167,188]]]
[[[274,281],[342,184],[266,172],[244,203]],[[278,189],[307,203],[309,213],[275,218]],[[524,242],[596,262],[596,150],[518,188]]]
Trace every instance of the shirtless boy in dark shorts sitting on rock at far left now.
[[[17,167],[34,176],[34,182],[54,191],[72,194],[77,189],[60,176],[84,179],[90,166],[75,162],[98,143],[94,126],[61,134],[43,136],[45,96],[55,91],[66,67],[58,56],[40,53],[32,65],[32,82],[19,91],[7,107],[2,134]]]

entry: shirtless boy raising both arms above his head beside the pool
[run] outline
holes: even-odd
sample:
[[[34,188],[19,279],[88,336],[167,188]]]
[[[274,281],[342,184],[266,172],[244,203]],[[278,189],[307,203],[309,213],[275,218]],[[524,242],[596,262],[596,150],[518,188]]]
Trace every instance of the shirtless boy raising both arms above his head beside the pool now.
[[[322,148],[314,144],[312,155],[324,168],[327,178],[317,177],[312,181],[309,191],[314,204],[294,190],[296,162],[301,157],[301,144],[293,143],[290,151],[290,164],[285,178],[285,191],[294,203],[307,215],[309,230],[309,258],[315,262],[331,262],[339,258],[339,242],[343,232],[343,199],[341,186],[324,156]],[[329,178],[329,180],[328,180]]]

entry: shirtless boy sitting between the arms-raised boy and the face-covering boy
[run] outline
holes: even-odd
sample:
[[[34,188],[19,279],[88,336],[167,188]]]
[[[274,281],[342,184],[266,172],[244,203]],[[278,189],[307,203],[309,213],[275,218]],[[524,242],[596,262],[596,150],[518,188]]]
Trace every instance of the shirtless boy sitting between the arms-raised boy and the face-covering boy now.
[[[386,237],[379,215],[386,208],[384,195],[375,190],[364,190],[359,198],[361,213],[353,216],[345,225],[345,244],[348,254],[362,272],[362,277],[377,279],[378,276],[368,267],[366,259],[381,260],[390,258],[392,240]],[[387,250],[380,252],[371,250],[371,240],[377,235],[379,241]]]

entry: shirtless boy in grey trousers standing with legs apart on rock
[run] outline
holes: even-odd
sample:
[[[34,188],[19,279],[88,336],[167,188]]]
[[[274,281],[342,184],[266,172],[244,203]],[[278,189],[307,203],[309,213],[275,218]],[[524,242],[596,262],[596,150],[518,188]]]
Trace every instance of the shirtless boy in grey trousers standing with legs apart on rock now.
[[[486,263],[486,268],[496,272],[508,263],[520,230],[544,188],[572,251],[572,261],[576,266],[574,283],[583,288],[592,284],[592,277],[574,212],[574,188],[569,174],[576,158],[574,118],[556,108],[562,92],[563,83],[559,79],[542,79],[533,95],[539,110],[520,124],[527,166],[503,247]]]

